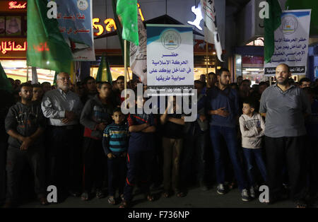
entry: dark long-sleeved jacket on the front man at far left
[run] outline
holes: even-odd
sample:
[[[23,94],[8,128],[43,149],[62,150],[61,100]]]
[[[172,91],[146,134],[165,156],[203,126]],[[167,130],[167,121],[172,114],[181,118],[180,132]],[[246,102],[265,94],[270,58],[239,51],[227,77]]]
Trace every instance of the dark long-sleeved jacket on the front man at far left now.
[[[6,132],[10,129],[15,130],[22,136],[32,136],[39,127],[45,128],[46,119],[43,116],[41,105],[38,102],[25,105],[23,103],[16,103],[8,110],[8,115],[5,119]],[[22,141],[9,136],[8,144],[13,148],[20,148]],[[41,146],[43,137],[40,136],[33,146]]]

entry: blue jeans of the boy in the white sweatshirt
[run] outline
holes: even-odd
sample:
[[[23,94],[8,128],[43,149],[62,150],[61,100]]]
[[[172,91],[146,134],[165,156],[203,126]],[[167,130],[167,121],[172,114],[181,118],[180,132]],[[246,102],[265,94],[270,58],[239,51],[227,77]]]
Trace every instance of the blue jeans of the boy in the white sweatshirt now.
[[[254,175],[253,175],[253,160],[257,163],[259,167],[259,172],[261,173],[261,177],[263,177],[264,182],[267,181],[266,176],[266,167],[261,156],[261,148],[243,148],[243,153],[245,156],[245,160],[247,162],[247,177],[249,180],[249,187],[253,187],[255,185]]]

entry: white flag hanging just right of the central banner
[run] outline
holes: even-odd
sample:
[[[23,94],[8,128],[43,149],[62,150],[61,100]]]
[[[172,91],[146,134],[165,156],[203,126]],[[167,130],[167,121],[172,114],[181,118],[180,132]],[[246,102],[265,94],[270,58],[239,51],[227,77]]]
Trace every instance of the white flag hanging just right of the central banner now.
[[[220,37],[218,35],[218,26],[216,25],[216,8],[214,0],[201,0],[201,11],[204,18],[204,40],[214,44],[218,60],[223,62],[221,58],[222,46],[220,45]]]

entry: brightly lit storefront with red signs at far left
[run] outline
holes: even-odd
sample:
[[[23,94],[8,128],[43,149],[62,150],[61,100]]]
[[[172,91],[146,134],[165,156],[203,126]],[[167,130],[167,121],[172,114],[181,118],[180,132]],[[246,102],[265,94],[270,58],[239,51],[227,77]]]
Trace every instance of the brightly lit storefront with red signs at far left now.
[[[32,80],[26,66],[27,6],[27,1],[0,0],[0,62],[9,78],[21,82]],[[37,69],[37,76],[40,83],[52,83],[54,71]]]

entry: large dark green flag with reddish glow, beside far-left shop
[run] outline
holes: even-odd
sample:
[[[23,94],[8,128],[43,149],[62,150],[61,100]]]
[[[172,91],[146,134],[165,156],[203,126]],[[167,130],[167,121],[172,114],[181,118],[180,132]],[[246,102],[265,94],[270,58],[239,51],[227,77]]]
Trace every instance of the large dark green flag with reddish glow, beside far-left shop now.
[[[47,18],[46,0],[28,1],[27,64],[70,73],[71,48],[59,33],[57,19]]]

